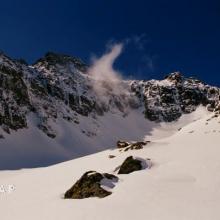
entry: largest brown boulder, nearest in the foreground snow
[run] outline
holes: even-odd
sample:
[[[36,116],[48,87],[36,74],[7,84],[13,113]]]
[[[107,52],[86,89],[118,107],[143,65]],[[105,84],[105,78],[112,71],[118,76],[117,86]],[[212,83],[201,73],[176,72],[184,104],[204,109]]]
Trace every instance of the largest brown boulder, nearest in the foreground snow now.
[[[101,187],[101,181],[107,178],[117,181],[117,177],[108,173],[88,171],[65,193],[65,199],[84,199],[89,197],[104,198],[112,194]]]

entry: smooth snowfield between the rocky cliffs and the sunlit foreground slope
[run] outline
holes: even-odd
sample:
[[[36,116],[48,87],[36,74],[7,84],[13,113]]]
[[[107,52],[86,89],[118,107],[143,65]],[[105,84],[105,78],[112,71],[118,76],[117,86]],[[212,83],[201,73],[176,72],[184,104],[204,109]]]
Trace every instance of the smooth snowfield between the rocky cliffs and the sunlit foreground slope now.
[[[53,123],[59,131],[56,139],[48,138],[36,126],[36,118],[29,117],[29,129],[5,134],[1,139],[0,169],[18,169],[24,167],[42,167],[61,161],[112,148],[122,140],[150,140],[170,136],[183,125],[209,114],[200,107],[195,112],[183,115],[178,122],[155,123],[143,119],[138,110],[122,117],[108,113],[96,119],[80,117],[80,124],[72,126],[61,120]]]

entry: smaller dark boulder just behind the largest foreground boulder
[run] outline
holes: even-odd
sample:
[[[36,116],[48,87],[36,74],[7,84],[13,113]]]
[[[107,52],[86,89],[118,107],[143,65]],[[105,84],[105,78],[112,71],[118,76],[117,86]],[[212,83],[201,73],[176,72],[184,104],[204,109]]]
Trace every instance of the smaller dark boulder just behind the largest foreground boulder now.
[[[142,161],[134,159],[132,156],[127,157],[120,166],[118,174],[129,174],[134,171],[142,170]]]

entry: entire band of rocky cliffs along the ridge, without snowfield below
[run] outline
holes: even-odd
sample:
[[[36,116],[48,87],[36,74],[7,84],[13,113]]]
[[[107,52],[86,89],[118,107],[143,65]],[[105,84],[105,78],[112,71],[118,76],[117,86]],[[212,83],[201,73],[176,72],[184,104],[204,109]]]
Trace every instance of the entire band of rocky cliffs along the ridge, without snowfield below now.
[[[108,82],[97,94],[97,79],[87,74],[88,66],[78,58],[47,53],[34,65],[12,60],[0,54],[0,126],[10,130],[25,128],[27,115],[38,118],[37,127],[56,137],[49,121],[62,118],[74,124],[79,116],[103,116],[107,112],[128,114],[128,109],[144,108],[145,118],[171,122],[191,113],[199,105],[218,108],[219,89],[175,72],[164,80],[126,81],[115,93]]]

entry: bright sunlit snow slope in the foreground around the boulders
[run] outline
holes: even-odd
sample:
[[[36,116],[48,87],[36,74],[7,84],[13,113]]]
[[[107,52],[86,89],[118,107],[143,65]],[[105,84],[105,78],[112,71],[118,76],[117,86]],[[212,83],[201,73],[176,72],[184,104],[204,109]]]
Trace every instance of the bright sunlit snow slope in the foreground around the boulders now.
[[[218,220],[220,118],[206,112],[200,116],[140,150],[111,149],[47,168],[1,171],[1,184],[16,187],[0,195],[2,218]],[[152,167],[128,175],[115,173],[130,155],[150,158]],[[64,200],[64,192],[89,170],[119,177],[112,195]]]

